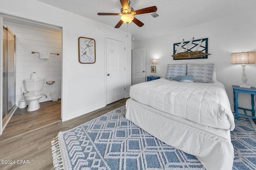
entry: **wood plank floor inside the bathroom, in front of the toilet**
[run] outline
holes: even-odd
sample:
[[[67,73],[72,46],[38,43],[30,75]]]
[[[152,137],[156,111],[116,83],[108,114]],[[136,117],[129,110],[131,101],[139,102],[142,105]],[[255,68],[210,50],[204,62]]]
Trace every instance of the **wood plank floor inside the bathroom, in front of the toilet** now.
[[[40,109],[35,111],[27,111],[27,107],[23,109],[17,108],[0,136],[0,143],[61,121],[60,105],[61,99],[56,102],[52,102],[52,100],[42,102],[40,103]]]

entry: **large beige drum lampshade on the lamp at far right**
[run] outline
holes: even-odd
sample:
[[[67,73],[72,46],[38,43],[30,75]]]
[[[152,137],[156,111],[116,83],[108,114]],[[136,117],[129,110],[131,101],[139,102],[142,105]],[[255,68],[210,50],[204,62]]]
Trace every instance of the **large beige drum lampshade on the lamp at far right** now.
[[[232,53],[231,57],[231,64],[255,64],[255,52]]]

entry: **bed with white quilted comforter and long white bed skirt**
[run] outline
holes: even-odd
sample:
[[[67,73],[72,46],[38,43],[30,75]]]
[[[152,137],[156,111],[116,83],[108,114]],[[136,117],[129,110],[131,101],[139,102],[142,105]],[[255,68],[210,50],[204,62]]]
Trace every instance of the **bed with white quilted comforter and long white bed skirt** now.
[[[182,75],[189,75],[188,71],[186,67]],[[196,82],[170,81],[172,76],[168,77],[167,69],[165,78],[131,86],[126,118],[164,143],[196,156],[207,170],[231,170],[234,115],[224,85],[213,75],[211,83],[196,76]]]

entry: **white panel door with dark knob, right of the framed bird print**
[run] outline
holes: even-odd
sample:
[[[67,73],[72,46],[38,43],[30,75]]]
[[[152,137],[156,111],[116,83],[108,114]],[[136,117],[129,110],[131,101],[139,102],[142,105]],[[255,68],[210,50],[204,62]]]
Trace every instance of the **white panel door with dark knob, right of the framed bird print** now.
[[[106,39],[106,104],[124,98],[124,42]]]

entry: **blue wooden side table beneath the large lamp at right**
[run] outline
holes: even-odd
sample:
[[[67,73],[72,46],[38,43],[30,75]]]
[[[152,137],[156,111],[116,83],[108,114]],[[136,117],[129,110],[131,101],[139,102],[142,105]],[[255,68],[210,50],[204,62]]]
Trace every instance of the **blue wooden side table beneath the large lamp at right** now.
[[[256,95],[256,88],[251,87],[251,88],[241,88],[239,86],[232,86],[233,87],[233,92],[234,92],[234,109],[235,109],[235,114],[236,114],[236,119],[238,119],[238,115],[243,115],[243,116],[247,116],[247,117],[251,117],[256,119],[255,115],[255,109],[254,109],[254,95]],[[246,94],[251,94],[251,99],[252,99],[252,109],[245,109],[242,107],[238,107],[238,93],[246,93]],[[238,109],[242,109],[244,111],[243,113],[238,113]],[[251,111],[252,112],[252,116],[251,115],[247,115],[246,113],[247,111]]]

